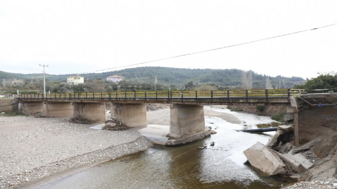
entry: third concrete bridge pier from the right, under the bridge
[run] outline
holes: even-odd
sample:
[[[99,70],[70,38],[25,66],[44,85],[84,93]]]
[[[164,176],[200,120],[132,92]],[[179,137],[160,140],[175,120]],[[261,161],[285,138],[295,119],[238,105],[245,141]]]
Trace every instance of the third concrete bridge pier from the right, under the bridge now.
[[[92,120],[106,120],[105,103],[78,103],[73,102],[72,115],[83,116]]]

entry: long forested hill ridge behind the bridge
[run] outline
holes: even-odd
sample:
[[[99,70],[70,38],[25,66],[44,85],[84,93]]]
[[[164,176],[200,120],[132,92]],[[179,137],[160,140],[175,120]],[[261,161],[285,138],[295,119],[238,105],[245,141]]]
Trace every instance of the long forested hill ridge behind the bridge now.
[[[251,72],[251,71],[250,71]],[[264,88],[268,76],[257,73],[252,74],[253,88]],[[215,84],[219,87],[237,88],[242,83],[243,70],[239,69],[186,69],[171,67],[136,67],[116,70],[105,73],[83,74],[85,81],[102,79],[106,80],[108,76],[123,76],[127,82],[137,83],[155,83],[158,84],[184,86],[192,82],[195,85]],[[249,72],[247,73],[249,75]],[[70,75],[46,75],[49,81],[64,81]],[[0,71],[0,80],[2,79],[42,79],[43,74],[12,74]],[[302,84],[304,79],[299,77],[286,78],[282,76],[270,77],[270,82],[274,88],[292,88],[296,84]]]

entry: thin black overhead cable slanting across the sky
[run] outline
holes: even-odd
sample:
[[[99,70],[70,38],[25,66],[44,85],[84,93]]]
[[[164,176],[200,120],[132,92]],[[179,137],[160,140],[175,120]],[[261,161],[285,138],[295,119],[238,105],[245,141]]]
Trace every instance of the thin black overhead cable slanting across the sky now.
[[[216,50],[220,50],[220,49],[231,48],[233,46],[249,44],[249,43],[253,43],[253,42],[258,42],[258,41],[273,39],[273,38],[277,38],[277,37],[283,37],[283,36],[287,36],[287,35],[298,34],[298,33],[302,33],[302,32],[308,32],[308,31],[312,31],[312,30],[318,30],[318,29],[321,29],[321,28],[326,28],[326,27],[330,27],[330,26],[334,26],[334,25],[337,25],[337,23],[333,23],[331,25],[322,26],[322,27],[318,27],[318,28],[313,28],[313,29],[308,29],[308,30],[302,30],[302,31],[288,33],[288,34],[283,34],[283,35],[277,35],[277,36],[274,36],[274,37],[268,37],[268,38],[253,40],[253,41],[249,41],[249,42],[233,44],[233,45],[229,45],[229,46],[223,46],[221,48],[216,48],[216,49],[210,49],[210,50],[205,50],[205,51],[198,51],[198,52],[194,52],[194,53],[188,53],[188,54],[177,55],[177,56],[172,56],[172,57],[167,57],[167,58],[161,58],[161,59],[156,59],[156,60],[151,60],[151,61],[146,61],[146,62],[140,62],[140,63],[125,65],[125,66],[118,66],[118,67],[112,67],[112,68],[107,68],[107,69],[100,69],[100,70],[95,70],[93,72],[86,72],[86,73],[81,73],[81,74],[89,74],[89,73],[94,73],[94,72],[102,72],[102,71],[109,70],[109,69],[128,67],[128,66],[133,66],[133,65],[140,65],[140,64],[150,63],[150,62],[157,62],[157,61],[161,61],[161,60],[173,59],[173,58],[178,58],[178,57],[183,57],[183,56],[188,56],[188,55],[195,55],[195,54],[199,54],[199,53],[205,53],[205,52],[209,52],[209,51],[216,51]]]

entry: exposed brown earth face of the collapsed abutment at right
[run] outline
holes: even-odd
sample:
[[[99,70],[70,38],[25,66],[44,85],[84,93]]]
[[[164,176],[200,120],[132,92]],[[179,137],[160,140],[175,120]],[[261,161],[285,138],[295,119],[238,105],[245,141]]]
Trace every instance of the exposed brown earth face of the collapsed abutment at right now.
[[[318,137],[324,148],[315,148],[325,157],[337,143],[337,93],[307,94],[291,99],[294,108],[294,144],[303,145]]]

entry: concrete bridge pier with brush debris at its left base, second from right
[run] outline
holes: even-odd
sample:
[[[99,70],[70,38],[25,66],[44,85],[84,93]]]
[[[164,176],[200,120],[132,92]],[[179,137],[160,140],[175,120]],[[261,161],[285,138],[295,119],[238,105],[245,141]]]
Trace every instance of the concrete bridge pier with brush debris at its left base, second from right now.
[[[145,104],[111,104],[111,117],[129,127],[148,125]]]

